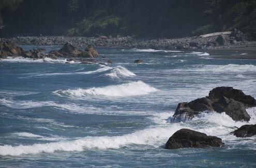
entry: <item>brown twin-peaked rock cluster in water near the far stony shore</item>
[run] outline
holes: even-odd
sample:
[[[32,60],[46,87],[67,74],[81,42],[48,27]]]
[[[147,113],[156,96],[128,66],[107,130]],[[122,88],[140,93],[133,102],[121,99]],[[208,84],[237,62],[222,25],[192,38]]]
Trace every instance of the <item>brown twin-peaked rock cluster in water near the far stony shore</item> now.
[[[88,47],[85,49],[85,51],[80,50],[74,45],[72,45],[70,42],[67,42],[63,45],[63,47],[59,50],[53,50],[49,52],[49,57],[90,57],[94,58],[98,56],[98,52],[94,50],[92,45],[88,45]]]

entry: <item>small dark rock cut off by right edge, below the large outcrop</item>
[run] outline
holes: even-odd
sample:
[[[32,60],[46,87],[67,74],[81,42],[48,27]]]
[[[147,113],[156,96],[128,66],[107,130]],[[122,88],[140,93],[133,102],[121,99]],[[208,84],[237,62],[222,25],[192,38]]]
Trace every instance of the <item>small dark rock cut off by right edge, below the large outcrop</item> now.
[[[244,125],[237,130],[231,132],[236,137],[246,138],[256,135],[256,124],[255,125]]]

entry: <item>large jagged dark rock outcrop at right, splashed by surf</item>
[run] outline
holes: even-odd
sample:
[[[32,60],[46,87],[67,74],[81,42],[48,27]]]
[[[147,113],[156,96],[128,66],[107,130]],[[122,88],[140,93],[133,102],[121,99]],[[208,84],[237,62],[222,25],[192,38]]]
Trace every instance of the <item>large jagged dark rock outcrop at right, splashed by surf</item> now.
[[[242,90],[233,87],[216,87],[209,92],[208,97],[191,102],[178,103],[173,118],[191,119],[201,112],[225,112],[233,120],[250,120],[246,108],[256,106],[255,99],[245,95]]]

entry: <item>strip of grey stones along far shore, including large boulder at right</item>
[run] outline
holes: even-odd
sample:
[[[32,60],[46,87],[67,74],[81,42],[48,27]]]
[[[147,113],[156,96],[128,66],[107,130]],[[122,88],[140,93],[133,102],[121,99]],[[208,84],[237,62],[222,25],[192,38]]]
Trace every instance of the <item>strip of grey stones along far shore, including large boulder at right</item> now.
[[[256,41],[246,41],[239,30],[234,29],[230,35],[195,36],[176,39],[138,39],[127,37],[10,37],[0,38],[0,42],[10,41],[15,45],[64,45],[67,42],[75,46],[93,45],[95,47],[151,48],[161,50],[186,49],[228,49],[231,47],[256,46]]]

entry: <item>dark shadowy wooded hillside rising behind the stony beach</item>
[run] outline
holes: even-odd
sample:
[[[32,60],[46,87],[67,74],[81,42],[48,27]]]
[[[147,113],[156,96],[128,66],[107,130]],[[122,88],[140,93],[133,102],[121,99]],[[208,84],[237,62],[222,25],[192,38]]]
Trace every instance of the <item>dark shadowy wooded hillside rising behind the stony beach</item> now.
[[[238,28],[256,39],[253,0],[1,1],[1,36],[184,37]]]

